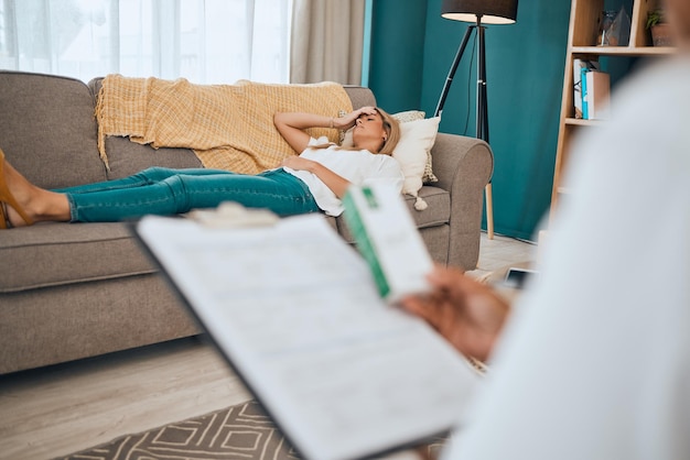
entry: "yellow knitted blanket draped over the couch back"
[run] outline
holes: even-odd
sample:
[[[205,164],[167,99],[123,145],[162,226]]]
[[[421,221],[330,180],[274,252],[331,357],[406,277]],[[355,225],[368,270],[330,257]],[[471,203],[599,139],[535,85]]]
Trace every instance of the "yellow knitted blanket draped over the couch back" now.
[[[194,85],[184,78],[129,78],[108,75],[98,94],[98,152],[106,166],[106,136],[140,144],[192,149],[202,164],[244,174],[276,167],[294,151],[273,125],[273,113],[310,112],[337,117],[352,111],[335,83],[312,85]],[[309,130],[338,141],[336,130]]]

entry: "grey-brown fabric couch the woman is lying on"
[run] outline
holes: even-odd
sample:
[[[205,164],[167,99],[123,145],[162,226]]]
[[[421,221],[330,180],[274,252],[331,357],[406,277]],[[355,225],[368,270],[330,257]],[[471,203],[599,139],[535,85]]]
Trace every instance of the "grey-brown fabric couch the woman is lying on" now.
[[[108,138],[111,171],[96,145],[100,80],[0,72],[0,147],[33,183],[58,188],[127,176],[144,167],[200,167],[192,151],[158,151]],[[354,107],[373,92],[348,87]],[[429,208],[410,211],[433,259],[476,266],[487,144],[439,134],[422,188]],[[341,218],[331,223],[352,241]],[[122,223],[40,223],[0,231],[0,374],[200,333],[198,326]]]

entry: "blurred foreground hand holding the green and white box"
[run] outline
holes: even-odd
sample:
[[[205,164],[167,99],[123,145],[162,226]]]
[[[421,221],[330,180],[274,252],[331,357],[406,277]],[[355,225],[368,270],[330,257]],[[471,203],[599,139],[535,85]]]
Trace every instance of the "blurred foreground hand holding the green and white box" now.
[[[402,299],[402,308],[425,319],[463,354],[486,361],[509,305],[489,286],[454,267],[436,265],[428,280],[432,292]]]

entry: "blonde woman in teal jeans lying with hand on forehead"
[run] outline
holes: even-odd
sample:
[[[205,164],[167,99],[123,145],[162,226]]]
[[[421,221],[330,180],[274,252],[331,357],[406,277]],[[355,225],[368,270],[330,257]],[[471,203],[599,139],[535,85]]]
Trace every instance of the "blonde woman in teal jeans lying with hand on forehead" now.
[[[111,222],[144,215],[171,216],[235,201],[279,216],[343,212],[351,184],[387,182],[402,188],[400,165],[390,155],[400,138],[398,121],[379,108],[364,107],[343,118],[276,113],[276,128],[300,153],[257,175],[219,169],[152,167],[132,176],[60,190],[31,184],[0,150],[0,228],[39,221]],[[354,147],[311,138],[308,128],[353,130]]]

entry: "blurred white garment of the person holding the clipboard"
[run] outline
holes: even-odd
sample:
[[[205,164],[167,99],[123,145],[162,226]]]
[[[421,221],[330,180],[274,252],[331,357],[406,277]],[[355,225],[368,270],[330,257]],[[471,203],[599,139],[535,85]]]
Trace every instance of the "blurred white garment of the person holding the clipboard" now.
[[[690,57],[612,110],[445,459],[690,459]]]

